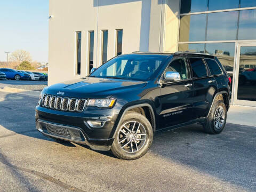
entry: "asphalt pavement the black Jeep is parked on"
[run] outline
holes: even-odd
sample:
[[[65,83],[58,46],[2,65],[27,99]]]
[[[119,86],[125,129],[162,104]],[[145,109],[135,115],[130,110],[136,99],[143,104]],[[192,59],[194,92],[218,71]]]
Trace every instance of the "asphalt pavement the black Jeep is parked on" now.
[[[0,191],[256,191],[256,127],[156,133],[145,156],[124,161],[41,135],[37,102],[0,92]]]

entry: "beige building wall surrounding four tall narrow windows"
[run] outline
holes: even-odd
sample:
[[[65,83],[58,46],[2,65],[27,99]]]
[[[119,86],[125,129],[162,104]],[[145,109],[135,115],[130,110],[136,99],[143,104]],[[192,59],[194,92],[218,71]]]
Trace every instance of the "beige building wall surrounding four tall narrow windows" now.
[[[179,0],[50,0],[49,6],[49,85],[89,74],[88,31],[94,30],[94,67],[102,63],[102,30],[108,59],[115,57],[116,29],[123,29],[122,53],[176,51]],[[76,31],[82,31],[81,75]]]

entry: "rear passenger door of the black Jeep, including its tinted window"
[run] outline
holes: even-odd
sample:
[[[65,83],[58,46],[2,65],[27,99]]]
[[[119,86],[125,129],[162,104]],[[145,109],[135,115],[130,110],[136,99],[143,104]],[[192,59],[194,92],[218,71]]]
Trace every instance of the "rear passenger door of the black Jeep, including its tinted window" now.
[[[187,59],[194,83],[193,118],[206,117],[210,110],[214,93],[218,90],[217,83],[206,67],[203,58],[188,57]]]

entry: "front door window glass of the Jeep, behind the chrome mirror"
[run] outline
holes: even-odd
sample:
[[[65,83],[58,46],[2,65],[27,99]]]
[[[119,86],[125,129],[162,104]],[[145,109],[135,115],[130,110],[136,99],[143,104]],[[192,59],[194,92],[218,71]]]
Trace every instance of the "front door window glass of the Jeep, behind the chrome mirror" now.
[[[180,74],[181,79],[188,78],[187,65],[186,65],[185,59],[183,58],[172,61],[169,64],[169,66],[165,69],[165,73],[167,71],[178,72]]]

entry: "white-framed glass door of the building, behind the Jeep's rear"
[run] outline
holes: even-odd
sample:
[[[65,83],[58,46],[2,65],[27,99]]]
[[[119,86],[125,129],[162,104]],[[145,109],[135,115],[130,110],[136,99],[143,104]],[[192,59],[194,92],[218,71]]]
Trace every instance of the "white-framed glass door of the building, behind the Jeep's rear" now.
[[[256,43],[238,43],[234,104],[256,106]]]

